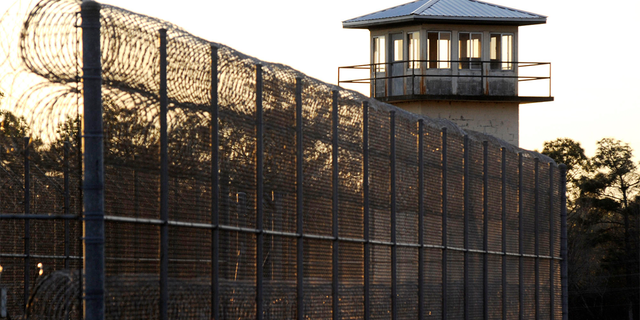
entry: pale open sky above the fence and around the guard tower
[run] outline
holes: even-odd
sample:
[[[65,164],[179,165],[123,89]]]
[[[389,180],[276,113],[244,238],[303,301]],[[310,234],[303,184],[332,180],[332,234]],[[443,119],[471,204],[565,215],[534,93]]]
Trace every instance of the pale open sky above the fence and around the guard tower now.
[[[4,3],[0,0],[0,10]],[[335,84],[339,66],[369,63],[369,31],[341,22],[410,0],[104,0],[168,20],[258,59]],[[613,137],[640,158],[640,1],[487,0],[548,16],[520,27],[519,60],[552,63],[554,102],[520,106],[520,146],[568,137],[592,156]],[[366,87],[366,85],[365,85]],[[368,88],[363,88],[367,91]]]

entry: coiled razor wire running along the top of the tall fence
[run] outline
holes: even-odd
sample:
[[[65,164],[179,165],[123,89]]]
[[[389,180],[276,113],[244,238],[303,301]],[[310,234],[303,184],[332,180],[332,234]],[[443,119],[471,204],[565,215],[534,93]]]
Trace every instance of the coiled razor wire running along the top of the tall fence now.
[[[27,118],[33,130],[48,139],[56,137],[54,125],[78,112],[82,76],[81,1],[17,1],[2,16],[0,24],[0,90],[6,95],[0,105]],[[104,107],[119,113],[125,109],[136,113],[140,125],[151,126],[157,118],[159,92],[158,30],[167,29],[168,95],[177,117],[204,117],[210,107],[211,41],[193,36],[170,22],[133,13],[118,7],[102,5],[102,68]],[[447,128],[460,136],[469,134],[476,141],[490,141],[514,153],[524,153],[550,163],[551,159],[501,141],[490,135],[465,131],[446,119],[431,119],[368,99],[364,95],[338,88],[306,76],[288,66],[267,63],[249,57],[223,44],[218,47],[220,59],[220,104],[229,111],[252,115],[250,101],[255,100],[254,66],[262,65],[265,81],[278,81],[283,89],[294,88],[295,78],[302,77],[305,102],[309,109],[330,105],[330,91],[340,90],[340,99],[369,101],[372,108],[394,110],[412,121],[425,120],[434,128]],[[293,91],[283,90],[281,94]],[[325,101],[318,101],[318,99]],[[252,100],[253,99],[253,100]],[[312,101],[314,100],[314,101]],[[153,106],[156,106],[155,108]],[[273,108],[265,104],[265,108]],[[346,109],[346,108],[345,108]],[[116,112],[118,111],[118,112]],[[342,112],[342,113],[346,113]],[[140,115],[143,113],[144,115]],[[115,116],[115,115],[114,115]],[[341,114],[357,117],[357,114]],[[175,119],[180,122],[179,119]],[[147,128],[150,130],[150,128]]]

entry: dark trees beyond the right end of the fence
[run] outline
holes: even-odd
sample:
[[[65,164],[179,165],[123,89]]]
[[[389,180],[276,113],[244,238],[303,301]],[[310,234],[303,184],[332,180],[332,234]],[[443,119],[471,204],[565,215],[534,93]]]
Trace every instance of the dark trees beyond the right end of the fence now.
[[[560,138],[542,150],[567,165],[569,316],[640,319],[640,171],[629,144],[596,147],[587,157]]]

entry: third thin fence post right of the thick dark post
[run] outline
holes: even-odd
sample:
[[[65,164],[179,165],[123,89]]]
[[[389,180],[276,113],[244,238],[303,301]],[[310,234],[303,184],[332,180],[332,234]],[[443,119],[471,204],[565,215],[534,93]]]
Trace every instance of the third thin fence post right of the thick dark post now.
[[[262,109],[262,65],[256,65],[256,319],[263,319],[262,301],[264,291],[262,287],[263,278],[263,256],[264,256],[264,233],[263,233],[263,202],[264,202],[264,119]]]

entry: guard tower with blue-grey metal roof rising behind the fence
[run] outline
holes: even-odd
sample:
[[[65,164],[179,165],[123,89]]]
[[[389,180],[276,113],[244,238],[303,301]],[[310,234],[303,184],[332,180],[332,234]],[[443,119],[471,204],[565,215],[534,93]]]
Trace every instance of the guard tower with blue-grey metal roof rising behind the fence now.
[[[476,0],[418,0],[347,20],[369,29],[371,61],[340,67],[338,84],[368,83],[380,101],[518,145],[520,104],[553,101],[550,63],[518,61],[518,27],[546,21]]]

